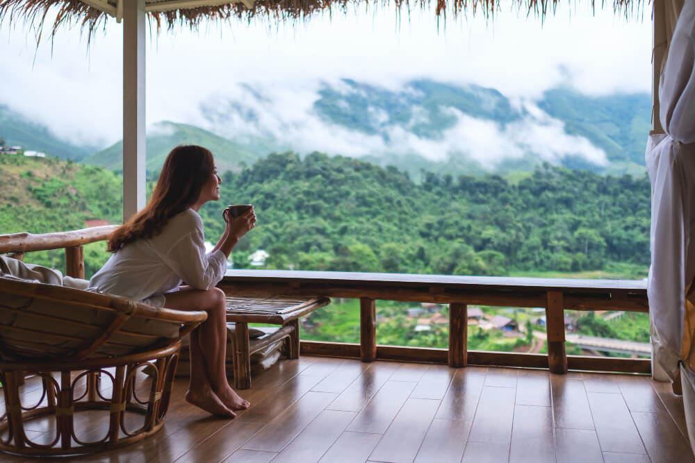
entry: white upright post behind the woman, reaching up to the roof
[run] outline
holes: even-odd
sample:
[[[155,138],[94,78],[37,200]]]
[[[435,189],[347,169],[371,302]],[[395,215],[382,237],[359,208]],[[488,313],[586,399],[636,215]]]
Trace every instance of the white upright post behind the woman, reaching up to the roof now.
[[[123,5],[123,220],[145,207],[145,0]]]

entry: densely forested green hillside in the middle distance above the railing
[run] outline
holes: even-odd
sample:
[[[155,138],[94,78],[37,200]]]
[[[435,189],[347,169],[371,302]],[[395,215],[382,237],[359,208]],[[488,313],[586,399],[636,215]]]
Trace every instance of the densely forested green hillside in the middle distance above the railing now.
[[[122,180],[111,171],[0,155],[0,175],[0,233],[120,221]],[[234,251],[237,267],[256,249],[275,269],[641,278],[648,267],[646,176],[542,165],[514,182],[430,173],[418,185],[394,167],[282,153],[222,179],[222,201],[200,211],[206,237],[222,233],[224,204],[252,203],[259,217]],[[90,248],[88,275],[106,258],[103,245]],[[63,253],[30,261],[60,267]]]

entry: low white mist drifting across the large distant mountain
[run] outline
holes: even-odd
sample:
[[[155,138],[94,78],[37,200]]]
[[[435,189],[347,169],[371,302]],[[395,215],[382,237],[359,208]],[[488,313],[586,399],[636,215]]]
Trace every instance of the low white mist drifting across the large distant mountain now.
[[[300,153],[321,151],[352,157],[400,153],[434,161],[465,153],[486,169],[494,169],[503,160],[522,158],[529,153],[553,164],[570,155],[599,166],[608,162],[602,149],[583,137],[565,133],[562,121],[550,117],[531,99],[517,98],[515,104],[523,110],[519,112],[521,119],[506,125],[476,119],[456,108],[442,106],[440,110],[453,117],[455,124],[441,131],[439,137],[427,137],[411,130],[416,124],[427,121],[429,113],[420,106],[415,107],[410,121],[398,124],[390,121],[384,108],[369,106],[367,113],[375,133],[332,124],[313,106],[321,98],[320,90],[325,90],[326,86],[320,81],[270,88],[263,84],[235,85],[225,91],[231,97],[225,99],[215,95],[202,104],[201,112],[207,116],[204,126],[236,140],[262,137],[275,146]],[[342,88],[339,94],[348,98],[351,93],[361,91],[359,87],[352,92]],[[404,87],[400,92],[408,94],[411,87]],[[391,94],[394,95],[399,94]],[[341,103],[347,105],[345,100],[338,100],[338,106]]]

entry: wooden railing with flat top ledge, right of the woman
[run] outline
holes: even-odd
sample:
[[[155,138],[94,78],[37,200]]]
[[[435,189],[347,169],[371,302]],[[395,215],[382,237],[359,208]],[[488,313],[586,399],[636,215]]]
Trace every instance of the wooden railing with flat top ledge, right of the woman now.
[[[646,282],[637,280],[575,280],[502,278],[395,273],[232,270],[219,285],[248,296],[290,294],[360,299],[360,344],[302,341],[301,352],[312,355],[448,363],[452,367],[488,364],[650,373],[648,359],[566,355],[565,310],[648,312]],[[377,345],[376,303],[388,301],[449,304],[449,348]],[[468,351],[468,304],[545,308],[548,355]]]

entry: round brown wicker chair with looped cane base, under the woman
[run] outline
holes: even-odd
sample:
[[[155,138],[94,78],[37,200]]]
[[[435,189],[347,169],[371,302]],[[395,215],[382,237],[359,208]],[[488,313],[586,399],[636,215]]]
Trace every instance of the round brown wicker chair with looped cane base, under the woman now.
[[[104,239],[104,233],[97,238]],[[38,250],[17,249],[16,239],[8,237],[17,235],[0,235],[0,252]],[[31,235],[23,237],[28,238],[23,244],[37,242]],[[82,243],[97,240],[90,237]],[[51,242],[55,249],[65,239]],[[66,251],[74,253],[70,249]],[[83,268],[82,262],[68,260],[68,269],[71,264]],[[180,338],[206,316],[202,311],[154,308],[117,296],[0,278],[5,409],[2,412],[0,403],[0,451],[77,455],[133,444],[154,434],[163,426],[169,405]],[[20,394],[26,375],[42,387],[31,403],[23,403],[28,399]],[[75,426],[85,420],[90,423],[86,437],[76,433]],[[38,440],[33,438],[36,428],[30,426],[34,421],[46,430]]]

